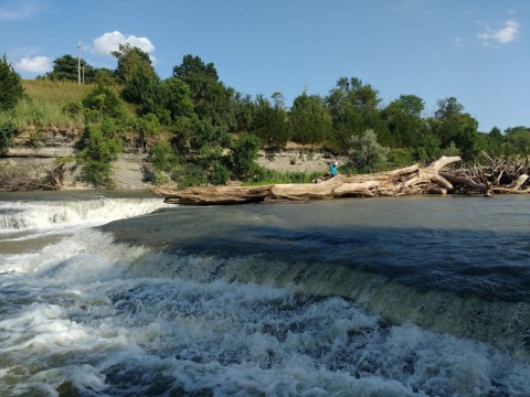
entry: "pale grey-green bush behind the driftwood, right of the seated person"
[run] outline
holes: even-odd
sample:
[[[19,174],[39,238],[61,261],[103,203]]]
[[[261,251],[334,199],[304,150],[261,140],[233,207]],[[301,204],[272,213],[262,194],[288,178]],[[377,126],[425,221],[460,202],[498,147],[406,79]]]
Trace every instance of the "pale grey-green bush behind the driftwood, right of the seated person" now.
[[[390,149],[378,142],[378,137],[371,129],[361,136],[352,136],[349,148],[349,165],[359,172],[381,171],[386,165]]]

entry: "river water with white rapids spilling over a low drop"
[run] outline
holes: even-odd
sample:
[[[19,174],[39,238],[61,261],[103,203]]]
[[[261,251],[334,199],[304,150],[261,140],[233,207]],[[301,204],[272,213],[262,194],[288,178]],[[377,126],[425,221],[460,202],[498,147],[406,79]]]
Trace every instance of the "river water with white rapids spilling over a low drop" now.
[[[528,396],[530,197],[0,195],[0,396]]]

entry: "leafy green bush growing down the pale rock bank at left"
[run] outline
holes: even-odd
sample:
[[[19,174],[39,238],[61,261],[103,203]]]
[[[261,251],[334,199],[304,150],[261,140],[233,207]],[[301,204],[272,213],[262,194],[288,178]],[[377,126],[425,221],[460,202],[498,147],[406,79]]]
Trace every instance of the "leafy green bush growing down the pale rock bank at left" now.
[[[115,186],[112,162],[121,152],[123,142],[113,137],[114,122],[103,126],[89,125],[85,130],[85,147],[78,152],[83,164],[82,178],[95,186]]]

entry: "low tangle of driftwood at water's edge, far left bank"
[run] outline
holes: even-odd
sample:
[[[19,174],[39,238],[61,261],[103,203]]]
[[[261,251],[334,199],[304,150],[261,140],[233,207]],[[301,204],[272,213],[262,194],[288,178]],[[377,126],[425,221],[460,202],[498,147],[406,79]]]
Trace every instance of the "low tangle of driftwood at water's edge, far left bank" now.
[[[65,172],[64,163],[51,170],[2,164],[0,167],[0,192],[60,190]]]

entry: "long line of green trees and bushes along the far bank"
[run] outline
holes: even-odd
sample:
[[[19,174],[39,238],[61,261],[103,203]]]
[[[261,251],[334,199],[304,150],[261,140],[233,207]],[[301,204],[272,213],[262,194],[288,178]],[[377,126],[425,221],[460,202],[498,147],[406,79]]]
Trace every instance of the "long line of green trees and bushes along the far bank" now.
[[[530,128],[479,132],[477,120],[455,97],[439,99],[434,115],[424,116],[425,103],[416,95],[401,95],[383,105],[370,84],[340,77],[328,95],[303,92],[288,108],[279,92],[271,98],[253,97],[226,86],[214,64],[199,56],[184,55],[172,75],[162,79],[138,47],[123,44],[113,55],[114,71],[94,68],[82,60],[85,83],[94,88],[81,104],[65,107],[85,116],[80,159],[85,161],[86,176],[97,183],[108,180],[108,164],[127,131],[135,131],[149,152],[155,180],[162,182],[169,175],[181,185],[258,180],[263,170],[255,163],[257,151],[279,150],[289,141],[306,150],[344,155],[353,172],[427,163],[442,154],[465,161],[474,161],[480,152],[528,158],[530,150]],[[13,74],[4,56],[2,87],[13,86],[3,77]],[[59,57],[53,71],[38,78],[77,82],[77,60]],[[9,93],[2,89],[0,95],[20,96],[17,90]],[[118,95],[134,106],[135,117],[127,116]]]

